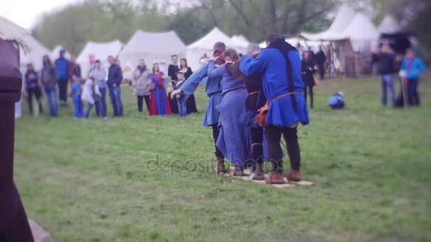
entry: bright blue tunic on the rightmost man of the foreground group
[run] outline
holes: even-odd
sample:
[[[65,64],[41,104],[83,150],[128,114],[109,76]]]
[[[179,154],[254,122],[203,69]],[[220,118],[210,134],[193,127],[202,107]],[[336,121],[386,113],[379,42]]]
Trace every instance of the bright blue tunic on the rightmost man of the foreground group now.
[[[295,91],[304,91],[299,53],[296,51],[289,52],[289,59],[292,64]],[[272,100],[284,93],[289,93],[286,59],[284,59],[283,54],[279,50],[267,48],[262,50],[255,59],[241,59],[240,71],[246,76],[263,73],[264,93],[268,100]],[[289,127],[297,122],[301,122],[303,125],[307,125],[310,122],[303,94],[299,93],[295,94],[295,96],[297,110],[293,109],[290,96],[284,96],[269,104],[267,115],[267,123],[269,125]]]

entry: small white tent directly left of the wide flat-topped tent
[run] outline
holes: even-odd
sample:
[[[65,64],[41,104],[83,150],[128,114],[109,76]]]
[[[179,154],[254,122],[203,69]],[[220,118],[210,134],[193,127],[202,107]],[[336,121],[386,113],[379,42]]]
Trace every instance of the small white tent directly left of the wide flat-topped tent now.
[[[104,60],[108,58],[108,56],[116,56],[123,47],[120,40],[113,40],[111,42],[92,42],[89,41],[86,43],[84,49],[81,51],[77,58],[78,63],[87,63],[89,62],[89,56],[91,54],[96,57],[96,59]]]

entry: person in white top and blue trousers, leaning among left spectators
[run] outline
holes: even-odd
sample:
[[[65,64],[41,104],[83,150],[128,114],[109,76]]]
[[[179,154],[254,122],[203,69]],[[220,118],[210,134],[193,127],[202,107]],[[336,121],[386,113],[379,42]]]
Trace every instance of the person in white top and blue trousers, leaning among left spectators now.
[[[96,108],[101,111],[103,119],[106,119],[106,111],[103,110],[101,104],[102,94],[99,91],[99,86],[94,82],[93,79],[87,79],[84,85],[84,90],[82,91],[82,100],[88,102],[88,107],[86,108],[85,118],[89,118],[91,108],[96,105]]]

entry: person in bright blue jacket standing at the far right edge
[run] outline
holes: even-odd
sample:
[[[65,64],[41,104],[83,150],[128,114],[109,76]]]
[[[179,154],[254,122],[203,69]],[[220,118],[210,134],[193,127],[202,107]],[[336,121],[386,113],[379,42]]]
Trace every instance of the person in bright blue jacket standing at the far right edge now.
[[[426,70],[425,64],[420,57],[417,57],[415,50],[408,49],[405,52],[403,63],[401,63],[400,76],[408,86],[408,103],[410,105],[420,105],[418,93],[419,76]]]

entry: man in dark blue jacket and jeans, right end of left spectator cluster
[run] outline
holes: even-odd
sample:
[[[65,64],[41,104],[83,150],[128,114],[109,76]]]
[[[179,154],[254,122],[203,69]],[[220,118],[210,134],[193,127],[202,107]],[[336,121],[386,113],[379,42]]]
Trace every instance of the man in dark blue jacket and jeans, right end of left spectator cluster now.
[[[123,81],[123,71],[116,64],[116,59],[109,56],[108,62],[111,66],[108,69],[109,97],[111,98],[113,117],[123,117],[123,102],[121,101],[121,82]]]

